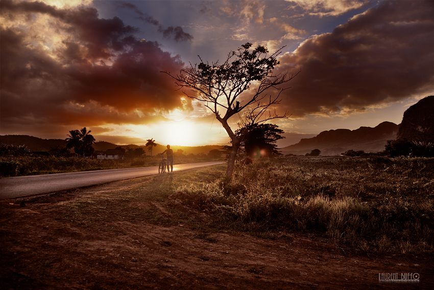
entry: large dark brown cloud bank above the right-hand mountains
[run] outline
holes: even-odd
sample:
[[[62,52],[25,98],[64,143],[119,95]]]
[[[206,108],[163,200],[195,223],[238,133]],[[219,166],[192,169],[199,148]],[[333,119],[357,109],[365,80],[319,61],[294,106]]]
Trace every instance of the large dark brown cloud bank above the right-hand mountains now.
[[[282,108],[293,117],[349,114],[432,94],[434,2],[385,1],[280,59],[296,73]]]

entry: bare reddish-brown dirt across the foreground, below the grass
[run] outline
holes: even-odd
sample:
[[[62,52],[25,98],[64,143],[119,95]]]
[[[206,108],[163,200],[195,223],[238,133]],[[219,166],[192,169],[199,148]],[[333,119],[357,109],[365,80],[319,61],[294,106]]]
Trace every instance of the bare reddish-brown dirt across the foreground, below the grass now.
[[[433,256],[360,254],[298,233],[274,239],[143,220],[95,231],[53,214],[111,183],[0,201],[2,289],[434,289]],[[167,202],[141,207],[174,219]],[[205,213],[192,213],[203,220]],[[379,273],[418,273],[418,284],[381,284]]]

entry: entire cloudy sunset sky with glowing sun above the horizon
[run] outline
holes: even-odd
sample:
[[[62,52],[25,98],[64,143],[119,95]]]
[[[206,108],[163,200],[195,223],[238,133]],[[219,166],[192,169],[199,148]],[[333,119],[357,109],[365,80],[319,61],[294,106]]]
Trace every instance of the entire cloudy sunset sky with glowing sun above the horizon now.
[[[434,1],[0,1],[0,135],[228,144],[174,80],[244,43],[281,49],[278,146],[330,129],[399,124],[434,95]],[[200,56],[200,58],[199,58]],[[273,95],[271,91],[269,94]],[[238,116],[230,120],[237,129]]]

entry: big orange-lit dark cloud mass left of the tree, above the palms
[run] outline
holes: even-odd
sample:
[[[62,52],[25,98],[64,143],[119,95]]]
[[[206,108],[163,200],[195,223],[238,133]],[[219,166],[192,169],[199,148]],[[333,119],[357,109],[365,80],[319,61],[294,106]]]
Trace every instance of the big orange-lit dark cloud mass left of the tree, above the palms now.
[[[119,18],[38,2],[2,1],[0,8],[2,133],[44,123],[141,124],[189,106],[160,73],[179,72],[179,57],[136,39],[136,29]]]

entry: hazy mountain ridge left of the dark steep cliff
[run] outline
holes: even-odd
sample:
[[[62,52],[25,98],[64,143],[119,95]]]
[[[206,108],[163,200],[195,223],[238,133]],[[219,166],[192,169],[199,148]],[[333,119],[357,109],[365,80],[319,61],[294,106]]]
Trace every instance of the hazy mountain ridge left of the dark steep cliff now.
[[[304,155],[320,149],[321,155],[339,155],[348,150],[379,152],[388,140],[396,139],[399,125],[383,122],[378,126],[360,127],[356,130],[337,129],[323,131],[314,138],[301,139],[299,143],[280,149],[283,154]]]

